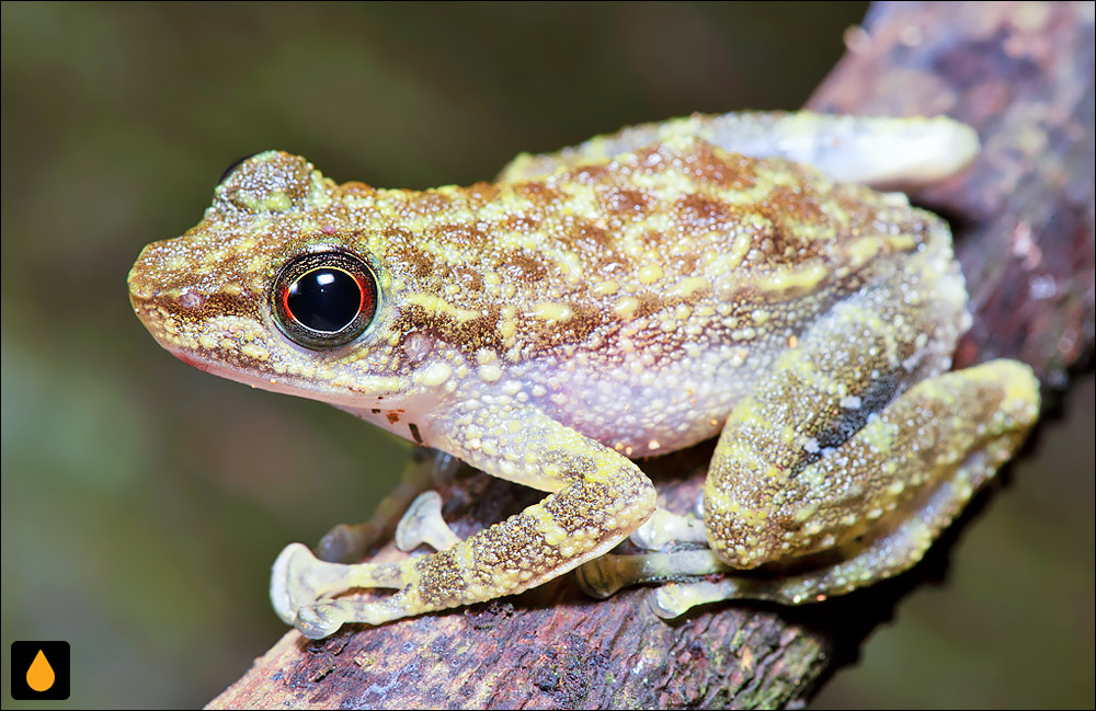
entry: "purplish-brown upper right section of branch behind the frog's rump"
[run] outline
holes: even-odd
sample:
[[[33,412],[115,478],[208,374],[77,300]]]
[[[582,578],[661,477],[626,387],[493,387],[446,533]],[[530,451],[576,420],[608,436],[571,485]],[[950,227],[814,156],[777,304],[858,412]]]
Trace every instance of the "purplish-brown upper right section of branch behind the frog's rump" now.
[[[913,195],[952,218],[974,326],[957,367],[997,356],[1061,389],[1093,345],[1093,33],[1084,3],[875,5],[809,102],[946,113],[978,129],[963,174]]]

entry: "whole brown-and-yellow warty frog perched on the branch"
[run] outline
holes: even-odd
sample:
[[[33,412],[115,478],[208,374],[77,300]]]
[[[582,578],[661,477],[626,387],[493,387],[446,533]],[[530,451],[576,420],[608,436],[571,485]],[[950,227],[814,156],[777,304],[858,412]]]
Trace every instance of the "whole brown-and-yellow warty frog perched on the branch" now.
[[[434,550],[395,562],[289,544],[271,599],[308,638],[576,569],[595,596],[664,583],[663,617],[812,603],[914,565],[1038,417],[1027,365],[950,370],[951,234],[891,190],[977,153],[945,116],[808,112],[642,124],[424,191],[266,151],[145,246],[129,297],[187,364],[545,493],[467,538],[416,498],[401,548]],[[636,460],[715,437],[696,509],[660,507]],[[610,552],[628,538],[648,550]]]

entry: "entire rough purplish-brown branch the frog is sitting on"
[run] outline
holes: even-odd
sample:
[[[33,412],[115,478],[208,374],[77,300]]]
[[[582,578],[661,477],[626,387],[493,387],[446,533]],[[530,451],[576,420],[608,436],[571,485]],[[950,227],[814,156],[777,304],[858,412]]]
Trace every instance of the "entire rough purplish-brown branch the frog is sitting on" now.
[[[877,5],[810,102],[856,114],[947,113],[979,129],[975,165],[915,196],[956,222],[977,311],[957,359],[1023,358],[1049,388],[1064,387],[1093,343],[1085,12],[1083,4]],[[647,462],[669,507],[684,509],[696,496],[708,454],[710,446]],[[683,471],[692,474],[682,480]],[[528,503],[527,492],[472,473],[443,496],[461,535]],[[210,707],[785,706],[804,699],[835,656],[932,569],[928,561],[803,609],[724,605],[676,623],[648,611],[648,590],[594,601],[568,575],[517,597],[352,627],[319,642],[289,632]]]

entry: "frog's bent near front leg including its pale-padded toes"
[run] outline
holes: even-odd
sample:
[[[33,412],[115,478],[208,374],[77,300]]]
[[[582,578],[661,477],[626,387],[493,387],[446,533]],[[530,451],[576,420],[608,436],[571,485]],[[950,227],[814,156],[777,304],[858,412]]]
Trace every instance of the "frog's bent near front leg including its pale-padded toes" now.
[[[551,493],[444,551],[397,563],[338,565],[287,548],[271,597],[305,635],[521,593],[608,551],[654,511],[654,488],[635,463],[535,410],[469,400],[436,414],[423,435],[489,473]],[[376,601],[319,599],[355,587],[397,592]]]

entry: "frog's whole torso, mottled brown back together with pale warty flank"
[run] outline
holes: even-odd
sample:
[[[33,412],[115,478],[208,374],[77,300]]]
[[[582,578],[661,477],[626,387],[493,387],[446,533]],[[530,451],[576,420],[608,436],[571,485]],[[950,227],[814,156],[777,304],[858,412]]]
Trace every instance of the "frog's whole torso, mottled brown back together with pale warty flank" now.
[[[479,289],[468,262],[446,279],[444,257],[431,260],[432,278],[465,275],[471,288],[448,291],[461,312],[487,314],[478,343],[454,341],[475,343],[488,389],[520,385],[632,456],[713,435],[817,314],[891,278],[909,254],[934,251],[959,278],[947,228],[904,196],[695,137],[493,190],[469,209],[490,236],[477,245]],[[961,309],[964,295],[946,291]]]

